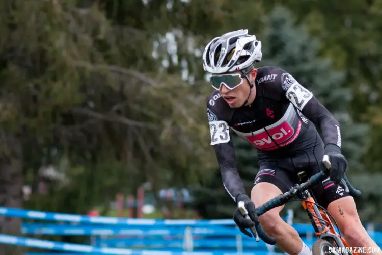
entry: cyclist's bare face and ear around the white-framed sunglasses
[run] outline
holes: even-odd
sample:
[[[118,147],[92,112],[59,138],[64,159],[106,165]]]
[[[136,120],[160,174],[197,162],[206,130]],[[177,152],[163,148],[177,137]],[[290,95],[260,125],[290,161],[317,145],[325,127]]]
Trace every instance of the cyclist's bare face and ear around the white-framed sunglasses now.
[[[238,72],[239,73],[239,72]],[[252,82],[255,81],[257,74],[257,70],[253,69],[250,74],[249,78]],[[237,108],[244,104],[245,100],[247,100],[247,97],[250,93],[250,84],[247,79],[243,78],[243,83],[237,86],[234,89],[229,89],[226,86],[221,86],[219,89],[220,94],[224,98],[224,100],[227,102],[227,104],[231,108]],[[256,88],[255,86],[252,88],[252,92],[250,95],[250,98],[248,99],[249,103],[252,103],[253,100],[255,100],[255,94],[256,94]]]

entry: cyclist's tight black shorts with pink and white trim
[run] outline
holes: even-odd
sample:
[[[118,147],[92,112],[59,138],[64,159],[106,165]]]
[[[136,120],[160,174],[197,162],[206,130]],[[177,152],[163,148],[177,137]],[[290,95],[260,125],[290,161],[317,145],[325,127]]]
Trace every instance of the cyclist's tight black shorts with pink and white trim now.
[[[254,185],[267,182],[276,185],[282,192],[287,192],[298,182],[298,172],[304,171],[310,177],[322,169],[319,164],[323,155],[324,149],[320,143],[298,152],[293,157],[259,159],[260,170],[255,177]],[[313,187],[312,192],[318,204],[325,209],[331,202],[349,196],[341,186],[335,185],[329,178]]]

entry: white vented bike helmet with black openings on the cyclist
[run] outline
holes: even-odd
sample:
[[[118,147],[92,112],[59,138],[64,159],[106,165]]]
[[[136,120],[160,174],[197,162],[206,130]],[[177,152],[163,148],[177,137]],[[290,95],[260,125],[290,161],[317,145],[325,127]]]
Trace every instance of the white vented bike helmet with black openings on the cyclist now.
[[[261,42],[248,35],[248,29],[240,29],[215,37],[203,52],[205,71],[219,74],[235,72],[260,62]]]

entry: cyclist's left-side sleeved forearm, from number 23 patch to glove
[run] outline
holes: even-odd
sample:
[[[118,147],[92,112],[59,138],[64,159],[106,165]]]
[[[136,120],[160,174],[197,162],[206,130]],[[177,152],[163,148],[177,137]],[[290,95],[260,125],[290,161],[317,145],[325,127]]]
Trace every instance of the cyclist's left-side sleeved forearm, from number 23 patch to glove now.
[[[236,202],[236,197],[245,193],[244,184],[237,172],[235,150],[232,142],[214,145],[217,163],[219,163],[223,186]]]

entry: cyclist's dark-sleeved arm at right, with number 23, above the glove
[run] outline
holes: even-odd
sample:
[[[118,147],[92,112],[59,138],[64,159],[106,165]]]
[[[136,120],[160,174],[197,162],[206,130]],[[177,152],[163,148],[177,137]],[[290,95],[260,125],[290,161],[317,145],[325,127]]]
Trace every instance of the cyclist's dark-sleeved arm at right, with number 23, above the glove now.
[[[286,97],[292,104],[300,110],[310,121],[312,121],[322,131],[325,146],[334,144],[341,148],[341,132],[338,121],[331,112],[326,109],[312,92],[299,84],[289,73],[289,78],[282,81],[289,81],[283,84]]]

